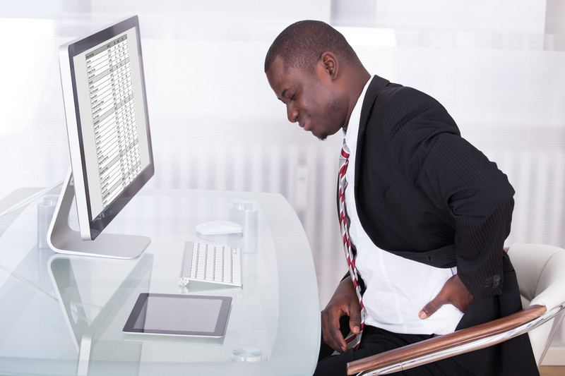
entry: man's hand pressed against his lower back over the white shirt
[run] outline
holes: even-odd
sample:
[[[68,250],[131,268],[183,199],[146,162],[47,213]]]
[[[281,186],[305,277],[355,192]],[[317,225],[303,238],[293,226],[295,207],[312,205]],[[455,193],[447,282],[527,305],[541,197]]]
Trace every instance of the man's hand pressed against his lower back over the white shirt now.
[[[439,310],[444,304],[452,304],[461,312],[465,312],[473,301],[473,297],[456,274],[446,281],[437,296],[422,308],[418,317],[426,319]]]

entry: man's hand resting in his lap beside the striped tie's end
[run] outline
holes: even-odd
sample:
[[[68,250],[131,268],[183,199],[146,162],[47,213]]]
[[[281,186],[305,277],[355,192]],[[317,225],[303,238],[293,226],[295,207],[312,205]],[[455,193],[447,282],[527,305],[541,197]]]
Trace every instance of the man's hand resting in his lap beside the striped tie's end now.
[[[322,311],[323,341],[339,353],[347,351],[347,344],[340,332],[340,317],[349,316],[349,327],[352,333],[361,331],[361,306],[351,278],[343,279],[335,289],[328,305]]]

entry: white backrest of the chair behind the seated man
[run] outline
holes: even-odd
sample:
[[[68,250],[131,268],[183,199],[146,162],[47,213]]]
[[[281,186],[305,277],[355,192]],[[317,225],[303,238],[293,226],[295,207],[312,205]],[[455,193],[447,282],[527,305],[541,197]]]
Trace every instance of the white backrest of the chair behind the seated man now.
[[[565,249],[553,245],[513,244],[508,253],[516,269],[524,308],[540,304],[549,311],[565,301]],[[552,319],[552,325],[547,322],[528,332],[537,365],[542,362],[564,313]]]

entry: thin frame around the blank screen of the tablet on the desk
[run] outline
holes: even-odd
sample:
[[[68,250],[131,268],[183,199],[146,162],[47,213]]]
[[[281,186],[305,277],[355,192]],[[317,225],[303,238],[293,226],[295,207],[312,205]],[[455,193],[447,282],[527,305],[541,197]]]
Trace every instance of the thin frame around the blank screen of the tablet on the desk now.
[[[138,317],[144,313],[143,308],[146,307],[145,303],[151,297],[171,298],[171,299],[206,299],[214,301],[222,301],[218,317],[216,317],[216,325],[213,332],[197,332],[172,329],[151,329],[151,328],[136,328]],[[206,296],[206,295],[181,295],[171,293],[140,293],[136,304],[129,314],[128,320],[124,325],[122,332],[128,334],[156,334],[164,336],[194,336],[201,338],[221,338],[225,334],[227,326],[227,317],[230,314],[230,307],[232,305],[232,298],[230,296]],[[166,320],[166,317],[164,317]]]

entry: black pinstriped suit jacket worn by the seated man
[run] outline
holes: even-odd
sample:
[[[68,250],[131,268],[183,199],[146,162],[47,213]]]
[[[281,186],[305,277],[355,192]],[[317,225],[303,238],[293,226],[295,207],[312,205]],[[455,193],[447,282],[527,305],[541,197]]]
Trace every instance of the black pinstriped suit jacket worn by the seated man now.
[[[513,188],[506,175],[461,138],[439,102],[375,76],[362,104],[355,200],[379,248],[436,267],[458,267],[475,301],[458,329],[521,309],[504,240]],[[535,375],[527,336],[460,356],[479,375]]]

